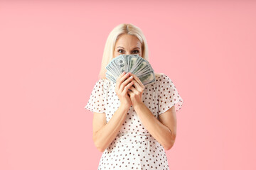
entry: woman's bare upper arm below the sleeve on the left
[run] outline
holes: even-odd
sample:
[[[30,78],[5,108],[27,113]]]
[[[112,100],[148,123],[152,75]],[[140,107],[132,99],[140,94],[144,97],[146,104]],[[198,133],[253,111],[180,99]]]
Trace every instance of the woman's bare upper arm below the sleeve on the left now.
[[[105,113],[93,113],[93,119],[92,119],[92,131],[93,131],[93,141],[95,141],[96,132],[100,130],[104,125],[106,125],[106,114]]]

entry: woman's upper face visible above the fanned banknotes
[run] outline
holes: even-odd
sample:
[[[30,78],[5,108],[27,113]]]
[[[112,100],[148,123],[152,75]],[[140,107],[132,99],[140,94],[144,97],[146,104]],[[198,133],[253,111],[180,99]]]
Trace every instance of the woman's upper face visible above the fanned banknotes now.
[[[139,55],[142,57],[142,43],[134,35],[121,35],[114,46],[114,57],[119,55]]]

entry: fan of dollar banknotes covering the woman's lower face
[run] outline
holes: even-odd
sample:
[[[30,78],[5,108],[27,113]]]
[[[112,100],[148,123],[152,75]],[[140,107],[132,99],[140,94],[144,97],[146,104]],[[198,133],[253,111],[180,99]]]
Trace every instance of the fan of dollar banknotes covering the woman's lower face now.
[[[156,81],[153,68],[148,61],[139,55],[119,55],[114,57],[107,64],[106,69],[107,79],[114,83],[117,82],[117,78],[122,72],[131,72],[136,75],[144,86]]]

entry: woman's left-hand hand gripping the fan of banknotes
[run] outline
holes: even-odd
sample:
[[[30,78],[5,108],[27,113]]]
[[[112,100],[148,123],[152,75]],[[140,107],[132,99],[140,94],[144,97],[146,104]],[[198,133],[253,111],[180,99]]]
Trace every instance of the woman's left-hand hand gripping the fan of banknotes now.
[[[115,89],[114,89],[114,91],[116,92],[119,98],[120,106],[122,105],[127,109],[132,104],[132,101],[129,98],[127,91],[134,84],[134,82],[132,82],[132,78],[129,78],[129,74],[131,73],[128,72],[128,74],[125,74],[125,72],[123,72],[121,75],[119,75],[119,77],[117,78]]]

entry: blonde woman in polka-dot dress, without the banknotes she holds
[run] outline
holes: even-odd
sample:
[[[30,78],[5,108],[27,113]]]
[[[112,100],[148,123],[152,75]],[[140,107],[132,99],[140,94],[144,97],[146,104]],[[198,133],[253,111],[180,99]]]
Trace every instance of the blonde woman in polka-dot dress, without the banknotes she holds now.
[[[132,24],[120,24],[107,38],[100,79],[85,106],[94,113],[93,140],[103,152],[98,169],[169,169],[164,150],[174,145],[183,100],[163,73],[146,86],[132,73],[123,72],[116,83],[106,79],[107,64],[123,54],[148,60],[146,38]]]

